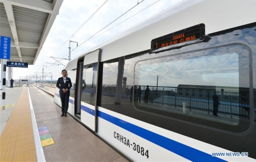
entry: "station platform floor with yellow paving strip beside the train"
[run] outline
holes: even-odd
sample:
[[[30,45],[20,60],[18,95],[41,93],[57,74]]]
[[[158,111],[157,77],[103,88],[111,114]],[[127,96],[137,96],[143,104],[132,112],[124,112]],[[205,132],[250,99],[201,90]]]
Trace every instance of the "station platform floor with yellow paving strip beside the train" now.
[[[128,161],[36,87],[6,88],[0,108],[0,162]]]

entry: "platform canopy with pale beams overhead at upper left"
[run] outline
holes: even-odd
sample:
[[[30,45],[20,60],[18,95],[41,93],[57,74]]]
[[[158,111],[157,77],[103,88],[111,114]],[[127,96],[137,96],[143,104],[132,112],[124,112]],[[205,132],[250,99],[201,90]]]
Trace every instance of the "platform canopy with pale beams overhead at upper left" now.
[[[62,2],[0,0],[0,36],[11,37],[9,61],[34,65]]]

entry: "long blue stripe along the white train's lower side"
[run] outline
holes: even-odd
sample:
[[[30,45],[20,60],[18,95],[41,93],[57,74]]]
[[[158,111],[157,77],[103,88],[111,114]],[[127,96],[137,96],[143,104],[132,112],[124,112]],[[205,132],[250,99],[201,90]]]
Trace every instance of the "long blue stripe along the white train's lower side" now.
[[[72,101],[72,103],[73,103],[73,101]],[[88,112],[91,115],[94,115],[94,110],[92,110],[86,106],[81,105],[81,109],[85,112]],[[142,137],[152,143],[155,143],[156,145],[161,146],[162,148],[169,150],[169,151],[171,151],[179,156],[182,156],[188,160],[191,160],[193,162],[206,162],[206,161],[226,162],[225,160],[211,156],[205,152],[196,150],[196,149],[189,147],[185,144],[176,142],[172,139],[163,137],[157,133],[148,131],[148,130],[141,128],[137,125],[128,123],[127,121],[121,120],[120,118],[115,118],[114,116],[111,116],[107,113],[104,113],[101,111],[97,111],[97,113],[100,118],[103,118],[114,125],[117,125],[127,131],[130,131],[139,137]]]

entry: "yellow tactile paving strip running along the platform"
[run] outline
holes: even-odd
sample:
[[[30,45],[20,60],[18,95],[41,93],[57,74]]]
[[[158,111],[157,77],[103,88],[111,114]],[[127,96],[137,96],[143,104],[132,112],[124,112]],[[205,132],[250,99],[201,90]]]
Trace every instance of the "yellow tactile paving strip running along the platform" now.
[[[0,162],[37,162],[26,87],[0,136]]]

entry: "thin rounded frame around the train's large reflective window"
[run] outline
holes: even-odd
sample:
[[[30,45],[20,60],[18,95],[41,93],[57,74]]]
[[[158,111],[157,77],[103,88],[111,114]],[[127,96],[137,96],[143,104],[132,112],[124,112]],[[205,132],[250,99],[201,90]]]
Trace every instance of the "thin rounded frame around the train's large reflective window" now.
[[[248,51],[248,75],[249,75],[249,94],[251,96],[251,94],[253,93],[253,86],[252,86],[252,52],[251,52],[251,49],[246,45],[246,44],[241,44],[241,43],[233,43],[233,44],[225,44],[225,45],[219,45],[219,46],[214,46],[214,47],[209,47],[209,48],[204,48],[204,49],[199,49],[199,50],[193,50],[193,51],[186,51],[186,52],[181,52],[181,53],[176,53],[176,54],[169,54],[169,55],[166,55],[166,56],[160,56],[160,57],[155,57],[155,58],[149,58],[149,59],[144,59],[144,60],[139,60],[135,63],[135,66],[134,66],[134,86],[139,86],[139,84],[136,84],[136,74],[138,73],[138,71],[136,71],[136,65],[139,63],[139,62],[143,62],[143,61],[148,61],[148,60],[153,60],[153,59],[158,59],[158,58],[164,58],[164,57],[170,57],[170,56],[180,56],[180,55],[183,55],[183,54],[189,54],[189,53],[195,53],[195,52],[199,52],[199,51],[205,51],[205,50],[212,50],[212,49],[220,49],[220,48],[225,48],[225,47],[231,47],[231,46],[242,46],[243,48],[245,48],[247,51]],[[164,50],[162,52],[166,52],[168,50]],[[159,52],[157,52],[159,54]],[[238,54],[238,55],[241,55],[241,54]],[[239,59],[240,60],[240,59]],[[238,61],[239,62],[239,61]],[[238,64],[238,67],[240,67],[240,63]],[[240,68],[238,69],[238,73],[240,74]],[[238,77],[239,78],[239,77]],[[238,89],[239,89],[239,93],[240,93],[240,79],[239,79],[239,86],[238,86]],[[185,92],[185,91],[184,91]],[[177,90],[177,93],[182,93],[181,91],[178,91]],[[241,95],[244,95],[243,93],[242,94],[239,94]],[[239,102],[240,104],[240,102]],[[151,114],[154,114],[154,115],[158,115],[158,116],[163,116],[163,117],[167,117],[167,118],[172,118],[172,119],[175,119],[175,120],[179,120],[181,122],[185,122],[185,123],[189,123],[189,124],[193,124],[193,125],[198,125],[198,126],[202,126],[202,127],[207,127],[209,129],[213,129],[213,130],[217,130],[217,131],[222,131],[222,132],[225,132],[225,133],[229,133],[229,134],[235,134],[235,135],[243,135],[243,134],[246,134],[248,133],[249,131],[252,130],[252,127],[253,127],[253,100],[249,99],[249,114],[251,114],[249,116],[249,121],[247,122],[248,126],[247,126],[247,129],[243,130],[241,129],[241,131],[237,132],[237,131],[231,131],[233,130],[234,128],[230,128],[230,129],[226,129],[225,127],[227,126],[227,124],[225,123],[222,123],[222,125],[220,127],[215,127],[215,126],[210,126],[210,125],[204,125],[204,124],[198,124],[198,123],[194,123],[194,122],[191,122],[189,120],[184,120],[184,118],[180,118],[180,117],[177,117],[179,116],[180,114],[176,114],[174,116],[165,116],[165,115],[162,115],[162,114],[159,114],[159,113],[155,113],[154,111],[150,112],[150,111],[146,111],[145,109],[141,109],[140,107],[138,107],[137,103],[135,103],[135,101],[133,102],[133,106],[134,108],[137,110],[137,111],[141,111],[141,112],[146,112],[146,113],[151,113]],[[150,107],[147,107],[151,110],[158,110],[159,111],[159,108],[156,108],[156,107],[153,107],[153,106],[150,106]],[[164,111],[164,110],[161,110],[161,111]],[[156,111],[157,112],[157,111]],[[176,112],[171,112],[171,113],[176,113]],[[239,113],[240,114],[240,113]],[[194,117],[195,118],[195,117]],[[205,119],[205,118],[204,118]],[[193,120],[193,119],[192,119]],[[238,118],[239,120],[239,123],[238,125],[228,125],[230,127],[238,127],[241,125],[241,118]],[[219,121],[214,121],[214,120],[207,120],[207,121],[210,121],[212,123],[212,125],[214,125],[215,123],[219,123]],[[225,129],[223,129],[223,128]],[[241,127],[241,126],[240,126]],[[237,129],[236,129],[237,130]],[[240,129],[239,129],[240,130]]]

